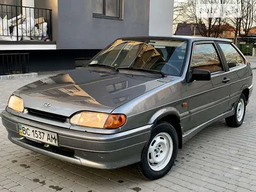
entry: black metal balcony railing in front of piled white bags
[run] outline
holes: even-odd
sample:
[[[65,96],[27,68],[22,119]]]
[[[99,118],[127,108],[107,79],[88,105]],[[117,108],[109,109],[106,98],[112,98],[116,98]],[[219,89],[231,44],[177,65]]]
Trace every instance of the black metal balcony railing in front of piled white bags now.
[[[0,41],[52,41],[52,10],[0,4]]]

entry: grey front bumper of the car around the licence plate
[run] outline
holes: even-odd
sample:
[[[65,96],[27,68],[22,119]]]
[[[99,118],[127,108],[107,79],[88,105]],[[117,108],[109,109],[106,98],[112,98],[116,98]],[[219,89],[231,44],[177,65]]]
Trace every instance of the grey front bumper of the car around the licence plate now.
[[[8,139],[21,147],[68,163],[102,169],[138,163],[152,129],[152,125],[146,125],[117,134],[93,134],[34,122],[6,111],[2,113],[2,121]],[[44,147],[44,143],[20,136],[18,124],[57,133],[59,147]]]

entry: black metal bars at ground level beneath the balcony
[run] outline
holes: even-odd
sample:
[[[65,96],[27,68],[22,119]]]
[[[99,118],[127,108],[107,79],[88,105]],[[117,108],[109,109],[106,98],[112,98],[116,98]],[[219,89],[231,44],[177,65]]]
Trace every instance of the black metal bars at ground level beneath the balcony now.
[[[0,54],[0,76],[29,72],[29,54]]]

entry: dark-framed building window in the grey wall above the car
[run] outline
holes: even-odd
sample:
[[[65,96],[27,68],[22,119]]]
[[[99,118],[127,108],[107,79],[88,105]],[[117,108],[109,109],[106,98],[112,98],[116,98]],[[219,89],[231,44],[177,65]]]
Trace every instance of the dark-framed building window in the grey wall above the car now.
[[[124,0],[92,0],[93,17],[123,19]]]

